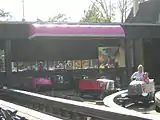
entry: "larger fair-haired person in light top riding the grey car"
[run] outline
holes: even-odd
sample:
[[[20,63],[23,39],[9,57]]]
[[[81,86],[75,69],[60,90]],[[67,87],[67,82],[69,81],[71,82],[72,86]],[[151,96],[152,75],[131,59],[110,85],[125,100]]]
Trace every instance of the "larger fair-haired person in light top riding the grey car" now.
[[[144,74],[143,66],[139,65],[137,68],[137,72],[133,73],[133,75],[131,76],[131,80],[141,79],[141,78],[143,78],[143,74]]]

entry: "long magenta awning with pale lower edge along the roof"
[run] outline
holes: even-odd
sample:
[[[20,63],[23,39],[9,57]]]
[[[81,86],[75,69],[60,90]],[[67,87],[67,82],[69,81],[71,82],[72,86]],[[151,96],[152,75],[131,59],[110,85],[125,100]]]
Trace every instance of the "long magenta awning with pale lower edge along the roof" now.
[[[30,37],[125,37],[120,25],[32,24]]]

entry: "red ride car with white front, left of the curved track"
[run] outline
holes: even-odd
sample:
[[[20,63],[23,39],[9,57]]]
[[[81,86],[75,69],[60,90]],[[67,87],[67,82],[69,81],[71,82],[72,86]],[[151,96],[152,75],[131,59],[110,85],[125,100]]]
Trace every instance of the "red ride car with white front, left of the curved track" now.
[[[83,76],[83,79],[79,81],[78,94],[80,97],[89,94],[103,99],[107,94],[111,94],[115,91],[114,84],[114,80],[107,79],[104,76],[97,79]]]

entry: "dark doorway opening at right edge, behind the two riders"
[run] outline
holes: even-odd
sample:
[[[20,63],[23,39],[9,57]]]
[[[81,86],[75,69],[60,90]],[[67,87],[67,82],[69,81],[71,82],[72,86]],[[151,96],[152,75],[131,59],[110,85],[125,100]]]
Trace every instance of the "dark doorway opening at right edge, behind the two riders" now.
[[[160,40],[144,40],[143,48],[145,71],[155,79],[156,84],[160,84]]]

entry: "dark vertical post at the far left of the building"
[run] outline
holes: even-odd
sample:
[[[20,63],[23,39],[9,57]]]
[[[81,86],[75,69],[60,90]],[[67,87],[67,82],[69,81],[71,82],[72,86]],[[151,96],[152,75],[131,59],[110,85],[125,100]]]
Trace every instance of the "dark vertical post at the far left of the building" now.
[[[6,71],[5,85],[10,86],[10,80],[12,75],[11,40],[5,40],[5,71]]]

